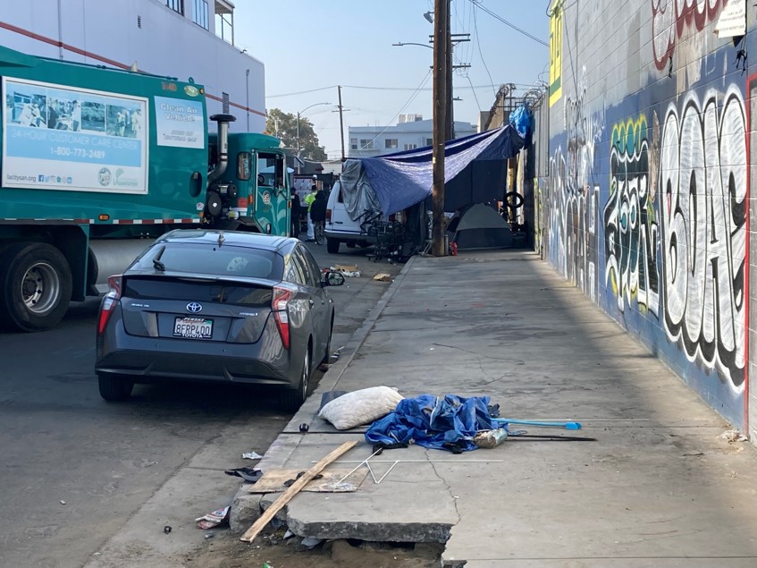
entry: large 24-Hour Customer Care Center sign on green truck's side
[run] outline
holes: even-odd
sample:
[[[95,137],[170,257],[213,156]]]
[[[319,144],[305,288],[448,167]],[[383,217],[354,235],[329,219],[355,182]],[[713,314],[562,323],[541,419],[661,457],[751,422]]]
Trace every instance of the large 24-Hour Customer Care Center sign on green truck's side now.
[[[3,78],[6,188],[147,193],[147,98]]]

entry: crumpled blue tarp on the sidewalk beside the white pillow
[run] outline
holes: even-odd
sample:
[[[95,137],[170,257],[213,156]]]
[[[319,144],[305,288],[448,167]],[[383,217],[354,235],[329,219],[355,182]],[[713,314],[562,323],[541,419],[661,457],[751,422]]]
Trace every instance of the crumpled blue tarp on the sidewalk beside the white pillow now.
[[[370,444],[409,444],[414,441],[433,449],[447,449],[445,444],[462,450],[475,450],[473,442],[479,430],[491,430],[489,397],[463,398],[455,394],[439,397],[421,394],[406,398],[397,408],[371,424],[366,431]]]

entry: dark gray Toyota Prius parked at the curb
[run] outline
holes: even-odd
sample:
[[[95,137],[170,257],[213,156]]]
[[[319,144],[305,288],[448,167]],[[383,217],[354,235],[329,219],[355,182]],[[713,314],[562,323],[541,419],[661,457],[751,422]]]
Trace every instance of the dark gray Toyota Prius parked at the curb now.
[[[108,283],[95,363],[106,401],[135,383],[223,381],[281,386],[296,410],[329,358],[325,288],[344,276],[321,271],[297,239],[190,229],[164,234]]]

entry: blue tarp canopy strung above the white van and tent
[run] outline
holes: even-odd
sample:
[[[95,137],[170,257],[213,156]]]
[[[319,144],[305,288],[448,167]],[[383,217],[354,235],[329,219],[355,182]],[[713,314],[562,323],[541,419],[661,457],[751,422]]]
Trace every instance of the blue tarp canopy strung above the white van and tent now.
[[[444,181],[450,182],[475,161],[517,156],[523,146],[524,139],[512,125],[450,140],[444,146]],[[432,158],[433,147],[428,146],[347,160],[341,182],[349,216],[357,219],[369,208],[380,208],[384,215],[390,215],[429,197],[433,187]],[[479,199],[500,197],[501,187],[489,189],[491,196],[479,194]]]

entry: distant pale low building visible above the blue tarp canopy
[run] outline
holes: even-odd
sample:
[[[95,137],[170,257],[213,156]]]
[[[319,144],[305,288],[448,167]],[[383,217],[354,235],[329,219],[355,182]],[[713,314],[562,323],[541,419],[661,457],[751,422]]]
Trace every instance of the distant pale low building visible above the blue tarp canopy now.
[[[455,122],[455,138],[475,134],[471,123]],[[433,144],[433,121],[420,114],[400,114],[396,126],[350,126],[349,157],[375,157]]]

